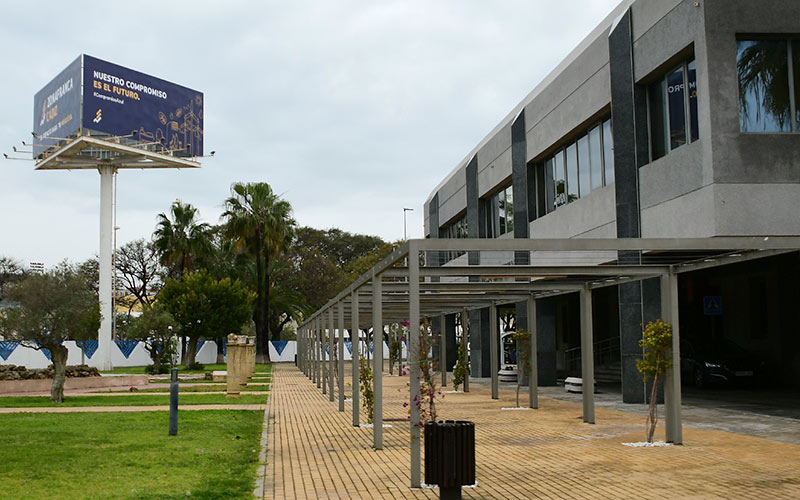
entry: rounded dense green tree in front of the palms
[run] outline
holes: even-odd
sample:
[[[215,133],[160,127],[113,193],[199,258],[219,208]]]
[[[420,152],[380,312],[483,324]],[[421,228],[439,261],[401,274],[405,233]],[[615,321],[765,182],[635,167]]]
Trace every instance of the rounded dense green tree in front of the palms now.
[[[184,365],[194,364],[200,338],[222,340],[238,333],[252,314],[252,295],[239,281],[214,279],[206,270],[167,279],[158,303],[189,338]]]

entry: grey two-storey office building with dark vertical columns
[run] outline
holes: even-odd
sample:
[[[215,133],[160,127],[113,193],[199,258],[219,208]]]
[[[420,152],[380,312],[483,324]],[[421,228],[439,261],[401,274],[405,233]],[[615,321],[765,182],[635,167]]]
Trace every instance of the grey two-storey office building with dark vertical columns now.
[[[425,231],[800,235],[798,207],[800,2],[626,0],[436,186]],[[797,253],[681,275],[682,356],[694,363],[684,375],[699,384],[759,378],[796,387],[798,278]],[[644,399],[635,360],[641,325],[659,314],[658,295],[656,280],[593,299],[595,352],[608,354],[599,369],[616,367],[627,402]],[[578,298],[539,302],[539,380],[555,384],[579,370],[570,361],[580,345]],[[473,311],[470,321],[472,373],[485,377],[488,312]],[[518,324],[526,321],[517,308]],[[446,323],[454,328],[453,318]]]

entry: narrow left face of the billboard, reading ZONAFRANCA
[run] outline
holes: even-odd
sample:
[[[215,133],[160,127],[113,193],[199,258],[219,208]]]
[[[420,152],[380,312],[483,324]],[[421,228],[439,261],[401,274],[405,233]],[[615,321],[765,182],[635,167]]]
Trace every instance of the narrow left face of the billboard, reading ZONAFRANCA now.
[[[80,127],[81,58],[78,57],[33,98],[34,156]]]

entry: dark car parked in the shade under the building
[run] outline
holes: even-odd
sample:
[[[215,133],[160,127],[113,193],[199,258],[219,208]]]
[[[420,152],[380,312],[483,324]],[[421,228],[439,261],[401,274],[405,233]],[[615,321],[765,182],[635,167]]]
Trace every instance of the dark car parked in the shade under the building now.
[[[761,365],[752,353],[729,340],[708,345],[681,342],[681,380],[695,387],[750,385]]]

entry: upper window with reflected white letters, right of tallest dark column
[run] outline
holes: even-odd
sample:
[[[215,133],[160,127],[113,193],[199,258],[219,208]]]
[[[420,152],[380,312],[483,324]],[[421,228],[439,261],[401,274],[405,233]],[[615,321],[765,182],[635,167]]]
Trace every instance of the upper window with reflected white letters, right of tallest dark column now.
[[[670,70],[664,78],[650,85],[647,93],[652,160],[700,137],[694,60]]]

